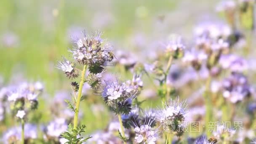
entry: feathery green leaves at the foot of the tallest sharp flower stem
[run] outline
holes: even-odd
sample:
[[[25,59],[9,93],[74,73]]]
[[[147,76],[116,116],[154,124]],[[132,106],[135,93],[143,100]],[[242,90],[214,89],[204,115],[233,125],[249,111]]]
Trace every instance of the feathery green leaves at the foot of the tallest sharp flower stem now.
[[[70,123],[67,131],[61,133],[61,137],[67,139],[67,142],[65,142],[65,144],[83,144],[83,142],[92,138],[91,136],[88,136],[85,139],[81,137],[81,133],[85,132],[85,128],[85,125],[80,125],[74,129],[73,125]]]

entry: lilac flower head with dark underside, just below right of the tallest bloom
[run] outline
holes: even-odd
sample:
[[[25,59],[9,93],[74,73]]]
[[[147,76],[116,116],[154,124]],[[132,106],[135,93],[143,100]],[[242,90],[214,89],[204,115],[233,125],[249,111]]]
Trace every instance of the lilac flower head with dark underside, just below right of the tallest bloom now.
[[[115,112],[128,114],[131,111],[132,100],[136,98],[137,91],[127,83],[118,80],[105,81],[102,97],[105,103]]]

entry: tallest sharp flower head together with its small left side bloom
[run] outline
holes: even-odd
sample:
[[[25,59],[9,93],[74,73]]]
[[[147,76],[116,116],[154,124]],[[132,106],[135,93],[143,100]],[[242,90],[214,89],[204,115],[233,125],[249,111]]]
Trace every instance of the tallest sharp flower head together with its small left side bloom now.
[[[103,71],[104,66],[111,65],[115,57],[112,46],[102,44],[101,32],[96,31],[91,37],[84,32],[83,37],[75,39],[75,43],[76,45],[69,50],[75,62],[63,57],[63,61],[58,61],[56,66],[64,71],[68,78],[78,77],[79,70],[75,68],[77,64],[87,65],[91,73],[98,74]]]

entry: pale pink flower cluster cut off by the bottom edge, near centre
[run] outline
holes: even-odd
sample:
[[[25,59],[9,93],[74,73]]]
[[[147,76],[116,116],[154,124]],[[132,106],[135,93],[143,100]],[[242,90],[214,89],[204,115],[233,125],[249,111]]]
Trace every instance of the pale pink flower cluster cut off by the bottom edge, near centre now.
[[[136,144],[155,144],[156,143],[158,139],[157,131],[156,130],[153,131],[150,125],[151,125],[151,122],[141,126],[136,126],[134,128],[134,131],[136,133],[134,142]]]

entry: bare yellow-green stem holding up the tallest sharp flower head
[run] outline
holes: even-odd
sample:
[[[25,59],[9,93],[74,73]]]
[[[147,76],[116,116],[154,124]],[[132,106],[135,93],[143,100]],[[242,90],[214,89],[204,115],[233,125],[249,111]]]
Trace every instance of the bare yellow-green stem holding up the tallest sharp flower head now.
[[[81,81],[80,81],[79,88],[78,88],[76,105],[75,105],[74,129],[77,128],[79,106],[80,106],[80,101],[81,101],[81,97],[82,97],[83,84],[85,83],[85,71],[86,71],[86,69],[87,69],[87,65],[84,65],[82,75],[81,75]]]

